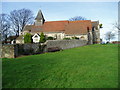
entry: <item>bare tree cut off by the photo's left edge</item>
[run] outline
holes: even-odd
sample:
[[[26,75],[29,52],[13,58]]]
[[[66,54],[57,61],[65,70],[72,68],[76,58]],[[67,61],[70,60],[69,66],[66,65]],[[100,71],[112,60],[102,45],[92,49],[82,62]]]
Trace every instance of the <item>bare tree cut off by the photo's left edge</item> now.
[[[7,14],[0,14],[0,33],[1,39],[7,40],[7,37],[10,32],[10,22],[8,20],[9,16]]]

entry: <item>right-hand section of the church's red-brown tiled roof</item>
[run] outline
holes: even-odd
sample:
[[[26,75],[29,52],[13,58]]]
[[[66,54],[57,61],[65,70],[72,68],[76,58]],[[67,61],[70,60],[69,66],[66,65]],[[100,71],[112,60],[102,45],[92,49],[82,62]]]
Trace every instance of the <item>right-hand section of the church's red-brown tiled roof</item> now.
[[[91,20],[79,20],[79,21],[69,21],[69,24],[65,28],[65,34],[77,35],[86,34],[92,29]]]

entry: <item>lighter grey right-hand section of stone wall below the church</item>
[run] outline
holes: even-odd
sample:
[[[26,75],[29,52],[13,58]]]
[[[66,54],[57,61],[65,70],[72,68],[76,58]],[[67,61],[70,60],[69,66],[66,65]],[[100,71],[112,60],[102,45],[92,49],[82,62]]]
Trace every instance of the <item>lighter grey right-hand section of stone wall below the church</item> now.
[[[49,40],[47,41],[46,48],[59,47],[61,49],[69,49],[84,45],[87,45],[86,40]]]

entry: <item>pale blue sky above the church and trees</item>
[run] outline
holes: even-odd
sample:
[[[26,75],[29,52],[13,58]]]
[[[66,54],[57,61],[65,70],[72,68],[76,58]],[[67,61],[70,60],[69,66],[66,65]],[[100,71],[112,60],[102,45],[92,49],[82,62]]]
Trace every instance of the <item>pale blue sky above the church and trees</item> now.
[[[101,38],[113,30],[112,24],[118,21],[118,2],[2,2],[2,13],[22,8],[32,10],[34,16],[41,9],[46,21],[68,20],[74,16],[99,20],[103,24]]]

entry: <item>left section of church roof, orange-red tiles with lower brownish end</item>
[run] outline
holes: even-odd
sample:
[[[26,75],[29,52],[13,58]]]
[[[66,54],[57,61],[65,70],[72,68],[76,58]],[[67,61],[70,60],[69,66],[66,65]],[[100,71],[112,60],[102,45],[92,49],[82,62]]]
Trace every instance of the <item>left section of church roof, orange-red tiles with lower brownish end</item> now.
[[[63,32],[68,21],[47,21],[42,26],[26,25],[24,31],[31,30],[31,33],[39,32]]]

